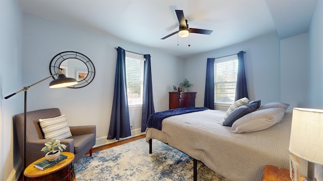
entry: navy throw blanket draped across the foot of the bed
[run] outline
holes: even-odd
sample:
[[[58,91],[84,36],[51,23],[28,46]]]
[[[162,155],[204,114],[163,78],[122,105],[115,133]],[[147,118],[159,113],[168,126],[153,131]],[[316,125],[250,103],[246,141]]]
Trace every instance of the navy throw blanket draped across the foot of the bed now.
[[[186,108],[178,108],[178,109],[156,112],[149,116],[147,121],[147,128],[155,128],[155,129],[161,130],[161,122],[163,122],[163,119],[165,118],[175,116],[175,115],[197,112],[197,111],[204,111],[204,110],[208,110],[208,108],[186,107]]]

